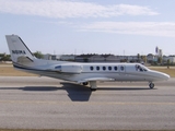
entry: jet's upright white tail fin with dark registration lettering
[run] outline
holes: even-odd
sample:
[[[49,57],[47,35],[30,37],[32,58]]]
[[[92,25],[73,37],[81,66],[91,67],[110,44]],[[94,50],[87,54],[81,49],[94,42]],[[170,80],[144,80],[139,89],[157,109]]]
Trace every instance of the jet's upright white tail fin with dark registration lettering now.
[[[22,61],[32,62],[34,60],[35,57],[18,35],[7,35],[5,38],[13,62],[22,63]]]

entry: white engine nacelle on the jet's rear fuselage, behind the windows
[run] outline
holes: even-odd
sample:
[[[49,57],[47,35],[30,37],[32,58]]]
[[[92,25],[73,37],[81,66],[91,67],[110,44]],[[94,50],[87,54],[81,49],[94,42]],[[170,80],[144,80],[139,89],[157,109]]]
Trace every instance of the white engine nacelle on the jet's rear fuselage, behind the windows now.
[[[55,67],[55,70],[62,72],[62,73],[81,73],[82,72],[82,66],[57,66]]]

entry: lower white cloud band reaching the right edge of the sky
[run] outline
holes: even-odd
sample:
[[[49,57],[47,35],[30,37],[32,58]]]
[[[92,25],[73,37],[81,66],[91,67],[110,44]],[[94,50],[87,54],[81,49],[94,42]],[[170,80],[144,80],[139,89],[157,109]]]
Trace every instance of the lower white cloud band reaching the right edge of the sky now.
[[[173,22],[94,22],[80,28],[85,32],[175,37]]]

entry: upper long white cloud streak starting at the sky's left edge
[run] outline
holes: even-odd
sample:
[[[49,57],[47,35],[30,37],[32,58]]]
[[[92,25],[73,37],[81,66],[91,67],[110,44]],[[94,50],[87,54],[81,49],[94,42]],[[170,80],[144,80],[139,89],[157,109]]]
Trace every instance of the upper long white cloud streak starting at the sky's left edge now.
[[[0,0],[0,12],[45,17],[112,17],[118,15],[158,15],[148,7],[103,5],[69,0]]]

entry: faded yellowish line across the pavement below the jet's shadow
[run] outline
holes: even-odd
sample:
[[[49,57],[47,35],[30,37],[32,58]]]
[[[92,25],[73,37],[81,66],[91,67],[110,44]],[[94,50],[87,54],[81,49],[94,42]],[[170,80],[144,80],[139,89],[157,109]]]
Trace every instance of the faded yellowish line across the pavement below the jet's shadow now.
[[[7,104],[50,104],[50,105],[175,105],[175,103],[140,103],[140,102],[43,102],[43,100],[0,100]]]

